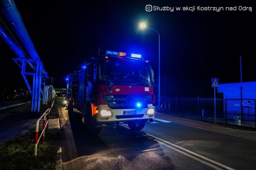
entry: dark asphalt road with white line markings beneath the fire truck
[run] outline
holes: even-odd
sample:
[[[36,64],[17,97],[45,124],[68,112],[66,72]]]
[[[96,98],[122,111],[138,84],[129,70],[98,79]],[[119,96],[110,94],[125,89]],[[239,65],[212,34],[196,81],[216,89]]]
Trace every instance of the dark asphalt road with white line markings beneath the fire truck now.
[[[141,131],[126,125],[87,135],[59,105],[63,170],[250,170],[256,167],[256,132],[229,129],[156,113]]]

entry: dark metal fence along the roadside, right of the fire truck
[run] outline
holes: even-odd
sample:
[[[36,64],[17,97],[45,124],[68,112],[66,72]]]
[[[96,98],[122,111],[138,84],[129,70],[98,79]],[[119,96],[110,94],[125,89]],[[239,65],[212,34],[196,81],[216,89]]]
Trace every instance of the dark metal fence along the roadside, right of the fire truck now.
[[[168,98],[160,112],[200,121],[256,128],[256,99]]]

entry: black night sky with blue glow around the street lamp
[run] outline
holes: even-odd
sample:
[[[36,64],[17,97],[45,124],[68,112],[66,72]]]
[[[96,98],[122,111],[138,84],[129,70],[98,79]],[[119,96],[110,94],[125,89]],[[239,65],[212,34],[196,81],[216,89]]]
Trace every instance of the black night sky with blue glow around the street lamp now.
[[[66,75],[87,57],[96,57],[98,47],[104,53],[142,54],[151,61],[158,80],[158,34],[140,30],[140,21],[160,34],[161,88],[166,96],[213,96],[211,78],[219,78],[220,84],[240,82],[240,55],[243,82],[256,81],[256,8],[249,0],[14,2],[48,76],[56,80],[55,88],[65,88]],[[147,12],[146,5],[181,9]],[[186,6],[195,6],[195,11],[182,10]],[[224,10],[198,11],[198,6]],[[14,53],[2,40],[0,48],[1,90],[26,88],[20,68],[12,61]]]

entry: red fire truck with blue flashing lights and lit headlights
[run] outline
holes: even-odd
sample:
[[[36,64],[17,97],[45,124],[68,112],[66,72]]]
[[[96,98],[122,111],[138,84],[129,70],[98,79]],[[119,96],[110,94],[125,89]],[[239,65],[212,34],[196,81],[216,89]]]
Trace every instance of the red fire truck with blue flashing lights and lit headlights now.
[[[68,115],[90,134],[102,125],[144,128],[154,118],[154,71],[142,55],[106,51],[67,76]]]

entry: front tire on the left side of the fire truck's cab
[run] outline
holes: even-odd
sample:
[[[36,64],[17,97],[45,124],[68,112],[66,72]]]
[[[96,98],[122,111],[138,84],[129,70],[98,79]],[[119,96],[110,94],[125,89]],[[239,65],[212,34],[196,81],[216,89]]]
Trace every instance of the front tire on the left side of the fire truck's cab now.
[[[92,111],[89,107],[90,105],[88,105],[88,107],[86,107],[86,115],[84,117],[84,125],[86,128],[86,131],[90,134],[90,135],[98,135],[101,131],[101,127],[97,127],[94,123],[93,117],[91,116]]]

